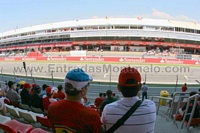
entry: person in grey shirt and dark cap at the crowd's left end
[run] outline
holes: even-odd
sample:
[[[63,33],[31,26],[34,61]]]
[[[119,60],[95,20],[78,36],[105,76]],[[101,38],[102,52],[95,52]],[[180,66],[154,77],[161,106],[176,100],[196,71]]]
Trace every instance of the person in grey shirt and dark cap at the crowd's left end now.
[[[17,102],[17,103],[19,103],[21,101],[21,97],[15,91],[14,84],[15,84],[15,82],[13,82],[13,81],[9,81],[8,82],[9,90],[8,90],[8,93],[6,94],[6,97],[10,100],[10,102]]]

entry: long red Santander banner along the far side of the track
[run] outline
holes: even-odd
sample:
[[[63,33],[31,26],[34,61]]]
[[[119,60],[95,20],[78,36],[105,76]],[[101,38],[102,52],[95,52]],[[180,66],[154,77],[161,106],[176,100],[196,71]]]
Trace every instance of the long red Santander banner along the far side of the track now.
[[[179,60],[179,59],[162,59],[162,58],[131,58],[131,57],[5,57],[0,61],[80,61],[80,62],[130,62],[130,63],[156,63],[156,64],[188,64],[200,65],[197,60]]]

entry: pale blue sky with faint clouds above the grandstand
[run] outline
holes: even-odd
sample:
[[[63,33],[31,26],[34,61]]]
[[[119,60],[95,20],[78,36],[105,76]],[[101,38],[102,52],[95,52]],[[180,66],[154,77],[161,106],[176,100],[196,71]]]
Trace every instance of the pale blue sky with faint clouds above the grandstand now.
[[[0,33],[39,24],[105,17],[200,23],[200,0],[0,0]]]

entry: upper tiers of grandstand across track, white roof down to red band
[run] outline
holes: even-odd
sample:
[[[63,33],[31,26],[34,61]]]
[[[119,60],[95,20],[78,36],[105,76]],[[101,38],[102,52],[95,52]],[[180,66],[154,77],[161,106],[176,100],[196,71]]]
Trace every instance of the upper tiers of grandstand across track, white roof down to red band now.
[[[61,46],[57,45],[59,43],[65,45],[63,43],[67,41],[73,43],[70,45],[68,43],[67,46],[164,44],[168,47],[200,49],[200,24],[142,17],[106,17],[47,23],[0,33],[0,50],[13,50],[19,46],[38,46],[52,42],[56,43],[52,45],[54,47]]]

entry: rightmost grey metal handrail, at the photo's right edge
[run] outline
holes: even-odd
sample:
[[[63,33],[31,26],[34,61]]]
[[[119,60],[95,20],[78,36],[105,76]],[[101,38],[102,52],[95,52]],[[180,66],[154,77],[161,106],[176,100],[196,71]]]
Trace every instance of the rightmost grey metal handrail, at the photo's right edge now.
[[[189,109],[190,101],[191,101],[191,99],[195,98],[194,104],[193,104],[193,107],[192,107],[192,112],[190,113],[190,118],[189,118],[189,121],[188,121],[188,124],[187,124],[187,130],[189,129],[189,126],[191,124],[191,121],[192,121],[192,118],[193,118],[193,115],[194,115],[194,111],[195,111],[196,106],[197,106],[197,100],[198,100],[199,97],[200,97],[199,94],[195,94],[195,95],[190,96],[188,98],[186,110],[185,110],[184,117],[183,117],[183,120],[182,120],[182,123],[181,123],[181,129],[183,128],[183,124],[184,124],[185,118],[187,116],[187,112],[188,112],[188,109]]]

